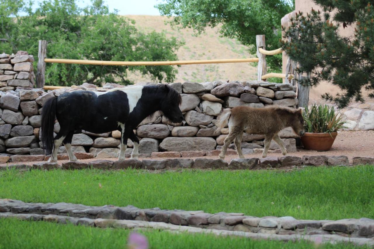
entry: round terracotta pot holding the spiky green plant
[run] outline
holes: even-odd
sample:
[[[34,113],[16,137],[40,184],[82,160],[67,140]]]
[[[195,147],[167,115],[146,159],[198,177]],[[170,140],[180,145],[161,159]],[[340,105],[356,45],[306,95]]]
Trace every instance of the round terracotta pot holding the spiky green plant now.
[[[334,143],[336,135],[338,135],[337,132],[305,132],[305,135],[301,137],[301,142],[303,142],[306,150],[327,151],[330,150],[332,144]]]

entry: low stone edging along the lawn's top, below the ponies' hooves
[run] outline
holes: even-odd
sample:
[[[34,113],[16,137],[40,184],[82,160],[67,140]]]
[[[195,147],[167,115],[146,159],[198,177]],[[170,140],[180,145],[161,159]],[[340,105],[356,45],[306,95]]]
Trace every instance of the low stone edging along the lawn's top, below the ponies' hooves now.
[[[83,154],[83,153],[82,153]],[[79,154],[78,154],[79,155]],[[85,156],[85,154],[83,154]],[[91,154],[93,157],[93,155]],[[19,155],[17,157],[25,157]],[[29,156],[27,156],[29,157]],[[42,156],[43,160],[45,156]],[[78,156],[77,156],[78,157]],[[1,159],[1,156],[0,156]],[[353,157],[353,165],[374,165],[374,157]],[[253,168],[282,168],[292,166],[349,166],[347,156],[282,156],[282,157],[266,157],[266,158],[246,158],[246,159],[232,159],[229,163],[222,159],[209,159],[209,158],[169,158],[169,159],[127,159],[127,160],[104,160],[98,159],[91,162],[66,162],[62,165],[57,163],[34,163],[33,165],[15,163],[0,166],[0,170],[6,169],[127,169],[129,167],[135,169],[178,169],[178,168],[197,168],[197,169],[253,169]]]

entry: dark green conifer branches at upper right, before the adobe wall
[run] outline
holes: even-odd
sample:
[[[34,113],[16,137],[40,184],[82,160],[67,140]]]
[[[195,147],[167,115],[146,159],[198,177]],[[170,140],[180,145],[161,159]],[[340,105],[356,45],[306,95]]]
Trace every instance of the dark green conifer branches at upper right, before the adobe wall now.
[[[298,62],[298,73],[310,73],[300,83],[315,86],[321,81],[340,87],[342,94],[322,98],[343,108],[350,101],[364,102],[362,89],[374,98],[374,10],[368,0],[316,0],[322,12],[298,13],[285,30],[282,47]],[[353,25],[351,37],[339,28]]]

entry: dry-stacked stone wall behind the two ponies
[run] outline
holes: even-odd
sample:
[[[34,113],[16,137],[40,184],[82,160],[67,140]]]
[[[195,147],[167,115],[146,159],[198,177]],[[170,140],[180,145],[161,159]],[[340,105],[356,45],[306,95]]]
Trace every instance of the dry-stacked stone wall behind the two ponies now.
[[[13,56],[13,55],[12,55]],[[10,56],[10,57],[12,57]],[[18,62],[26,60],[24,62]],[[27,61],[29,60],[29,61]],[[32,69],[32,56],[18,55],[7,59],[9,69],[19,68],[17,65],[28,64],[28,70]],[[6,71],[4,71],[5,73]],[[16,86],[13,82],[18,79],[8,79],[6,88],[0,91],[0,152],[8,154],[43,154],[40,142],[40,110],[44,103],[53,96],[59,96],[65,92],[77,90],[107,91],[114,87],[125,87],[118,84],[107,83],[104,87],[96,88],[93,84],[83,83],[81,86],[73,86],[45,92],[43,89],[30,88],[33,75],[22,71],[12,75],[19,77],[21,73],[29,73],[30,79],[22,79],[22,83]],[[6,74],[1,75],[7,76]],[[10,77],[9,77],[10,78]],[[14,86],[10,86],[14,84]],[[149,85],[156,83],[138,83]],[[140,153],[151,154],[159,151],[212,151],[223,145],[228,129],[222,130],[222,135],[217,136],[214,131],[218,116],[224,108],[232,108],[239,105],[250,107],[264,107],[266,105],[295,106],[295,87],[290,84],[275,84],[259,81],[235,81],[235,82],[205,82],[205,83],[171,83],[169,84],[182,96],[181,110],[185,120],[182,123],[171,123],[162,113],[156,113],[152,118],[144,120],[135,130],[140,138]],[[27,87],[26,87],[27,86]],[[55,132],[59,131],[59,124],[55,123]],[[281,132],[286,148],[295,151],[296,135],[290,128]],[[263,148],[263,135],[243,136],[243,151],[245,154],[253,153]],[[291,139],[290,139],[291,138]],[[73,136],[74,152],[92,153],[97,157],[117,157],[119,154],[120,132],[113,131],[101,134],[93,134],[82,130],[82,133]],[[133,144],[128,141],[129,154]],[[233,148],[231,145],[230,148]],[[271,149],[278,146],[272,144]],[[61,146],[59,154],[66,153]]]

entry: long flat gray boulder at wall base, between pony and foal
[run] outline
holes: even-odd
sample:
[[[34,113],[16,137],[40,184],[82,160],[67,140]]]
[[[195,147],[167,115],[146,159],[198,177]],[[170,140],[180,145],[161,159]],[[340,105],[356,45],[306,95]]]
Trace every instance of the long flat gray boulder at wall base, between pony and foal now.
[[[191,151],[191,150],[205,150],[211,151],[215,149],[217,143],[214,138],[207,137],[168,137],[163,139],[160,144],[160,149],[163,151]]]

